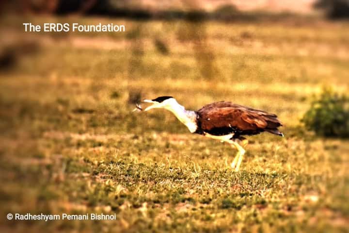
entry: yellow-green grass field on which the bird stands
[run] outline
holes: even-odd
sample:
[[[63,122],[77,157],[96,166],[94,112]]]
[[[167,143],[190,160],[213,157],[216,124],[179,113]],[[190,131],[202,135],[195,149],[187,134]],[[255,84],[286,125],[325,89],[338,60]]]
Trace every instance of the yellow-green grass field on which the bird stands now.
[[[20,33],[24,21],[67,20],[127,32]],[[300,124],[323,86],[348,91],[348,23],[2,25],[14,50],[33,51],[0,73],[1,232],[348,232],[349,142]],[[191,135],[169,112],[131,112],[162,95],[193,110],[231,100],[276,113],[285,137],[250,137],[233,172],[229,145]]]

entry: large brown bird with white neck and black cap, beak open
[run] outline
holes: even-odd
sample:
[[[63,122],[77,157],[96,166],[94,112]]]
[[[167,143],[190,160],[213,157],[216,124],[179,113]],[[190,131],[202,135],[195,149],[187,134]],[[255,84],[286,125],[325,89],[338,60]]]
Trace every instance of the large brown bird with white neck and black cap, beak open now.
[[[162,108],[169,110],[186,125],[190,133],[200,134],[230,144],[238,150],[231,168],[239,171],[248,140],[245,135],[256,135],[263,132],[284,136],[279,131],[282,123],[275,114],[232,102],[219,101],[209,103],[197,111],[186,110],[172,96],[160,96],[153,100],[144,110],[137,104],[134,111],[149,111]]]

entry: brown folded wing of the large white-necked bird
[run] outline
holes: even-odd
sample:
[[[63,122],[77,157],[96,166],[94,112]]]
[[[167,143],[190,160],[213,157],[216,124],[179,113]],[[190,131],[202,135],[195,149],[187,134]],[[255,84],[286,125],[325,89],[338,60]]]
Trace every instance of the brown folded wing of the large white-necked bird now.
[[[276,115],[231,102],[207,104],[197,113],[202,130],[215,135],[231,132],[257,134],[263,131],[282,135],[277,129],[282,124]]]

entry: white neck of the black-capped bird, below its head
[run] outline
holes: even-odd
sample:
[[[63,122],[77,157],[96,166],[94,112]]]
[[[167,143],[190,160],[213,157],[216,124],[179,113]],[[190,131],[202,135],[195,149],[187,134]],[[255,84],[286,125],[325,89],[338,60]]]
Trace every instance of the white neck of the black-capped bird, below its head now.
[[[174,101],[171,105],[166,106],[165,109],[171,111],[174,116],[180,120],[180,122],[185,124],[190,133],[194,133],[196,131],[196,113],[194,111],[185,110],[185,108],[176,101]]]

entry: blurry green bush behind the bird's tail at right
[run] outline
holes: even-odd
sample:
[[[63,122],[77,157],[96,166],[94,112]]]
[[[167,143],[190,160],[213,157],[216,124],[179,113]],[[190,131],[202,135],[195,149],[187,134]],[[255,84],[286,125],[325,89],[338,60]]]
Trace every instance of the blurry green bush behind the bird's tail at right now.
[[[349,99],[325,89],[302,120],[305,127],[325,137],[349,137]]]

